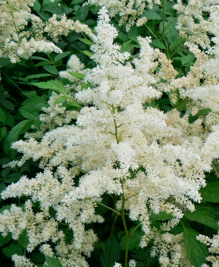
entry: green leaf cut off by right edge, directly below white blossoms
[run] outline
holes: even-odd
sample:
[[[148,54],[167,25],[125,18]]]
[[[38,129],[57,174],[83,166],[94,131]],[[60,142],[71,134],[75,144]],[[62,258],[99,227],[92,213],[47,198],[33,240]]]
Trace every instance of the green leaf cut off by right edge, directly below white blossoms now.
[[[206,187],[200,189],[203,201],[219,203],[219,182],[207,182]]]

